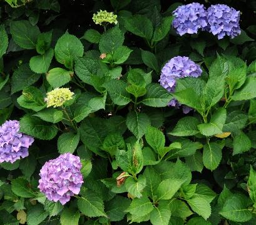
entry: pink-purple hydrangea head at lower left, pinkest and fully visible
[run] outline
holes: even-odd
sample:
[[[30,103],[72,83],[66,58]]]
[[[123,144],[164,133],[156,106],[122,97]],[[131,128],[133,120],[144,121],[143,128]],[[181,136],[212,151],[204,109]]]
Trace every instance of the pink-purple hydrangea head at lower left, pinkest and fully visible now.
[[[50,201],[66,204],[74,194],[79,194],[83,183],[79,156],[70,153],[51,159],[41,168],[39,189]]]

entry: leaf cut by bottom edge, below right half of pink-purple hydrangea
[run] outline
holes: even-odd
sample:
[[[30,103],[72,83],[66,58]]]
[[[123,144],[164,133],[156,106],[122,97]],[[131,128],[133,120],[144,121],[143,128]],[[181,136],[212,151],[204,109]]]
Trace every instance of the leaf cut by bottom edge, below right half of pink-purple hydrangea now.
[[[79,217],[80,213],[78,210],[66,207],[61,212],[61,225],[78,225]]]

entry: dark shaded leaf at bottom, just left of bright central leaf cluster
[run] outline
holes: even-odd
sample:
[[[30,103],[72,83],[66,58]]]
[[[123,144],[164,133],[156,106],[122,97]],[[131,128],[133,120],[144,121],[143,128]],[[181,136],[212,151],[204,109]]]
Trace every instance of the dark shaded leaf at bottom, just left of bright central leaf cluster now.
[[[129,199],[123,196],[116,196],[106,204],[106,214],[110,221],[121,221],[126,214],[126,209],[130,206]]]

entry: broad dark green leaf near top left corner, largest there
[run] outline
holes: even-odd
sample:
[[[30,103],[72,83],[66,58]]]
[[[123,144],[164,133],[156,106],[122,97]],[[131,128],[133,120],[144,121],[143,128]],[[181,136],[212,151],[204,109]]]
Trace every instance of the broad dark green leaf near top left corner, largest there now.
[[[10,32],[14,42],[24,49],[35,49],[40,31],[38,26],[32,26],[29,21],[12,21]]]

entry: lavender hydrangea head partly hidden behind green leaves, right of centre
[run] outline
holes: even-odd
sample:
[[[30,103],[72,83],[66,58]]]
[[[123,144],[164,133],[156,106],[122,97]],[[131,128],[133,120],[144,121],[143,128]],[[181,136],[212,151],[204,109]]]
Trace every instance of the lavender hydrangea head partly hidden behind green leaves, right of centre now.
[[[198,64],[195,64],[186,56],[177,56],[163,66],[161,69],[160,84],[169,92],[175,92],[175,86],[177,79],[193,77],[198,78],[201,76],[202,69]],[[180,103],[176,99],[172,99],[168,106],[179,107]],[[189,108],[183,110],[184,113],[188,113]]]

